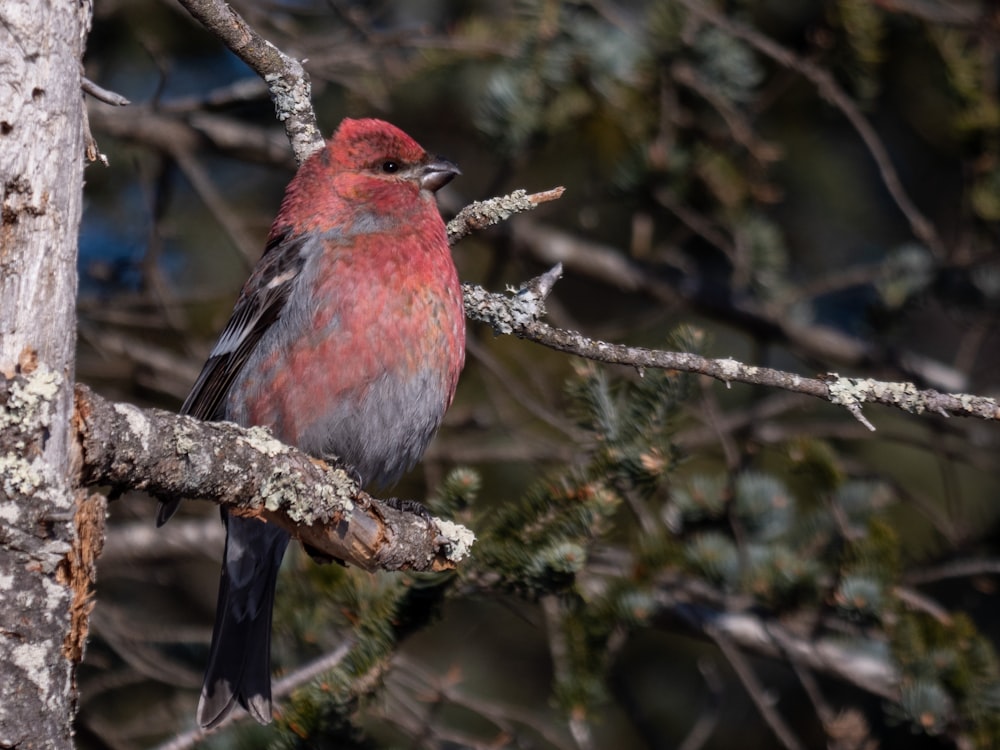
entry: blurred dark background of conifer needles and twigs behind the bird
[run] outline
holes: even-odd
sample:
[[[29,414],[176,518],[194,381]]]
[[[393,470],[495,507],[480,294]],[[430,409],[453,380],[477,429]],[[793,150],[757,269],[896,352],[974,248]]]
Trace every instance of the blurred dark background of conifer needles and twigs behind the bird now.
[[[463,240],[553,325],[804,376],[997,393],[1000,12],[986,0],[236,0],[320,124],[557,185]],[[174,0],[99,0],[78,379],[177,409],[294,163],[264,84]],[[1000,429],[588,365],[470,326],[393,494],[479,536],[451,575],[286,561],[267,728],[211,747],[1000,746]],[[194,727],[222,529],[111,505],[81,747]],[[181,737],[174,747],[191,746]]]

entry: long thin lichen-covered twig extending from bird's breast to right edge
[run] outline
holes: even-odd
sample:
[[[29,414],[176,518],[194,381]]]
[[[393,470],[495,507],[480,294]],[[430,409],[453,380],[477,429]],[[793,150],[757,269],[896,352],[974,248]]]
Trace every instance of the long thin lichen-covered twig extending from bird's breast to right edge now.
[[[561,275],[559,265],[529,281],[511,294],[487,292],[482,287],[465,284],[465,314],[471,320],[486,323],[498,335],[514,335],[557,351],[608,364],[630,365],[639,369],[655,367],[677,370],[730,383],[749,383],[780,388],[821,398],[845,407],[869,429],[874,426],[861,413],[864,404],[891,406],[911,414],[931,412],[941,416],[976,417],[1000,420],[996,399],[964,393],[941,393],[921,390],[912,383],[891,383],[871,378],[846,378],[837,373],[807,378],[770,367],[756,367],[735,359],[711,359],[689,352],[668,352],[639,346],[610,344],[576,331],[554,328],[542,322],[545,298]]]

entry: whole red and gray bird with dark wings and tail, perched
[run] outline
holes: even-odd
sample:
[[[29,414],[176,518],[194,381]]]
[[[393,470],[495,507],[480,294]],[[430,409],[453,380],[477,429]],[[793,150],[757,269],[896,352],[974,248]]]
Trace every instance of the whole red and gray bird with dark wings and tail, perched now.
[[[264,255],[181,411],[265,425],[365,484],[423,454],[465,358],[434,192],[458,168],[380,120],[344,120],[285,191]],[[177,503],[160,506],[165,523]],[[271,613],[289,536],[222,513],[225,560],[198,721],[271,720]]]

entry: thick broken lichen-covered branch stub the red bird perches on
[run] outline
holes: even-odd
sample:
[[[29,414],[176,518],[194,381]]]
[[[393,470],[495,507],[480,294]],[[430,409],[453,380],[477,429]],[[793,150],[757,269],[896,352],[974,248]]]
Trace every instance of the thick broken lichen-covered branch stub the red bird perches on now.
[[[457,524],[372,498],[344,469],[260,427],[112,403],[85,386],[77,386],[74,426],[85,485],[212,500],[366,570],[452,568],[473,541]]]

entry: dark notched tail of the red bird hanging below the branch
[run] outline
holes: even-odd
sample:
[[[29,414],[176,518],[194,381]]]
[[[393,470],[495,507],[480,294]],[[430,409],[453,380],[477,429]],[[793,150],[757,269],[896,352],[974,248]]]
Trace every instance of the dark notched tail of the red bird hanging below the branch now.
[[[226,553],[219,580],[212,648],[198,703],[211,729],[239,703],[261,724],[271,721],[271,614],[288,534],[255,518],[222,515]]]

